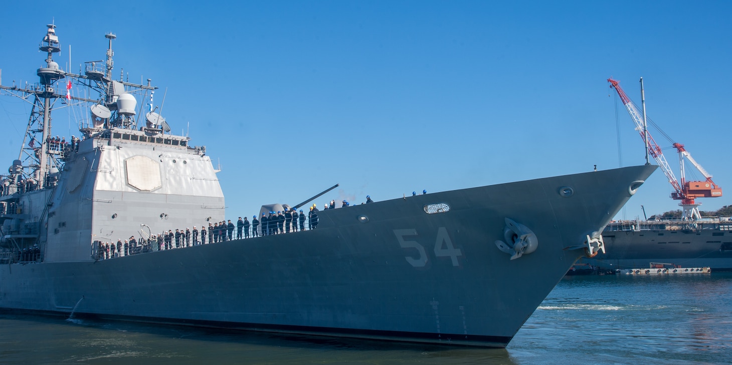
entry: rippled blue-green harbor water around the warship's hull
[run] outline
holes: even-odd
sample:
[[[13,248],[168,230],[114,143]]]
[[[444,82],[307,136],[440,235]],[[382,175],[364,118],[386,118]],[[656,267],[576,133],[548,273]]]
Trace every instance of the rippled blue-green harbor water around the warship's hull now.
[[[506,349],[3,313],[0,364],[732,364],[731,312],[722,273],[568,276]]]

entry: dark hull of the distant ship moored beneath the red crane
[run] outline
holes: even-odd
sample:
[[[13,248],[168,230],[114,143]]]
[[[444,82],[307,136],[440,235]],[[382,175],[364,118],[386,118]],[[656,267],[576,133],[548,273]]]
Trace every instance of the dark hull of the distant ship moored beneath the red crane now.
[[[606,253],[582,258],[580,263],[600,271],[648,268],[650,263],[671,263],[684,268],[709,267],[712,272],[732,271],[732,222],[695,223],[689,227],[605,230]],[[691,224],[687,224],[691,225]]]

